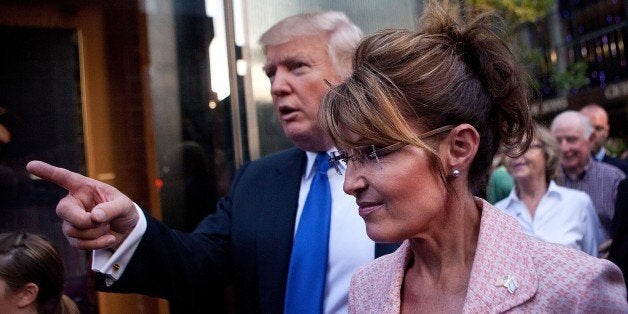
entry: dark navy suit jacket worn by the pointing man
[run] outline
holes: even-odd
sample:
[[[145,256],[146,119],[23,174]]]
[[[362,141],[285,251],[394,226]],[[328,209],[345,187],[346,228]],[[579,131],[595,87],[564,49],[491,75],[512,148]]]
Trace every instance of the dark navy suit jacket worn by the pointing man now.
[[[147,215],[146,233],[123,276],[110,288],[97,276],[99,288],[176,301],[232,284],[236,312],[281,313],[306,161],[294,148],[243,165],[216,213],[191,234]],[[378,244],[374,254],[397,246]],[[208,309],[211,304],[197,310]]]

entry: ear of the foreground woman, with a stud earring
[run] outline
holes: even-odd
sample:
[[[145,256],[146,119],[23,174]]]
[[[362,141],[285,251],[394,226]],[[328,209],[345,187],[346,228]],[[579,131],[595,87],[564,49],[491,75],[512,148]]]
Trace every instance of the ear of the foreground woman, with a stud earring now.
[[[446,156],[446,170],[463,171],[469,169],[475,154],[480,146],[480,134],[470,124],[464,123],[456,126],[449,132],[443,148]]]

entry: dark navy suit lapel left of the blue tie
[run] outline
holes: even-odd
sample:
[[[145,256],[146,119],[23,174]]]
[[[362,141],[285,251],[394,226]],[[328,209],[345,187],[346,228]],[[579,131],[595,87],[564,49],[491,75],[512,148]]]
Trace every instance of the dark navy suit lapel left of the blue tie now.
[[[294,221],[305,153],[298,149],[277,158],[269,167],[264,189],[265,204],[259,207],[257,265],[262,312],[283,310],[283,298],[290,261]],[[277,296],[281,296],[277,299]]]

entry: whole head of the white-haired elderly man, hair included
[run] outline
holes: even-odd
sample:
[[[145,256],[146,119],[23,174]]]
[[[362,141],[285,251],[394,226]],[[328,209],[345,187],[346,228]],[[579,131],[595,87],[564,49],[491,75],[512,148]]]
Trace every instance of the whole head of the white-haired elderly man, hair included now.
[[[577,111],[564,111],[552,120],[550,130],[560,145],[563,171],[572,176],[582,173],[591,159],[589,119]]]

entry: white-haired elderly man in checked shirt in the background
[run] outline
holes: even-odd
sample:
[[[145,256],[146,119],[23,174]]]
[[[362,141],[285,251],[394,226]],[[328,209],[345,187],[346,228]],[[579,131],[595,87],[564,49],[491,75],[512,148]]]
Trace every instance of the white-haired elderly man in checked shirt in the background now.
[[[562,154],[562,185],[584,191],[593,200],[606,238],[600,245],[600,256],[604,257],[613,236],[617,185],[626,175],[617,167],[592,158],[593,127],[585,115],[573,110],[562,112],[554,118],[550,129]]]

